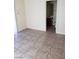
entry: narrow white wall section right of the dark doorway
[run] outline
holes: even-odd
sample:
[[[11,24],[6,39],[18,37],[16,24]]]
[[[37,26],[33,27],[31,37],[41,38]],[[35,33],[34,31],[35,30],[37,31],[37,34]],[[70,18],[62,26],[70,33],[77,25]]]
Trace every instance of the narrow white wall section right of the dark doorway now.
[[[57,0],[56,33],[65,34],[65,0]]]

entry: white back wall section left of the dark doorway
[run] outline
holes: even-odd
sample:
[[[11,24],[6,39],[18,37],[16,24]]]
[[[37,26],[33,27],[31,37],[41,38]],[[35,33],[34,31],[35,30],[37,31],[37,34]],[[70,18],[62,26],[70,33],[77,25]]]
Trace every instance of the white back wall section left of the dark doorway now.
[[[27,28],[46,31],[46,1],[25,0]]]

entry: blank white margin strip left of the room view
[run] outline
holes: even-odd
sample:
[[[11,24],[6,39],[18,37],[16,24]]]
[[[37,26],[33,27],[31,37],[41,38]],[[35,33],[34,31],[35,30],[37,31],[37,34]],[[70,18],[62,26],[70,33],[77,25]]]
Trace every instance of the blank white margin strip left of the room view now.
[[[14,59],[14,0],[0,0],[0,59]]]

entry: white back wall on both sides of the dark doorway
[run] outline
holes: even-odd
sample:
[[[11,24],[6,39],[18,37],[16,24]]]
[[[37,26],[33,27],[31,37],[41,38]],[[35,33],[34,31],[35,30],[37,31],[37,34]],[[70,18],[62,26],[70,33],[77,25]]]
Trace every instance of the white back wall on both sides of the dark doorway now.
[[[46,1],[25,0],[27,28],[46,31]],[[64,0],[57,0],[56,33],[65,34]]]

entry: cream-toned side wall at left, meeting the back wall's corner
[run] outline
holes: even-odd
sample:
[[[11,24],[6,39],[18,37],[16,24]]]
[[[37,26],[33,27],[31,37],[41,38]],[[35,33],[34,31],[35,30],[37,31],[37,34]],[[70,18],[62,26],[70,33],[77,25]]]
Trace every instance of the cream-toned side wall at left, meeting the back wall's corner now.
[[[17,31],[26,29],[25,5],[24,0],[15,0],[15,15],[17,23]]]

